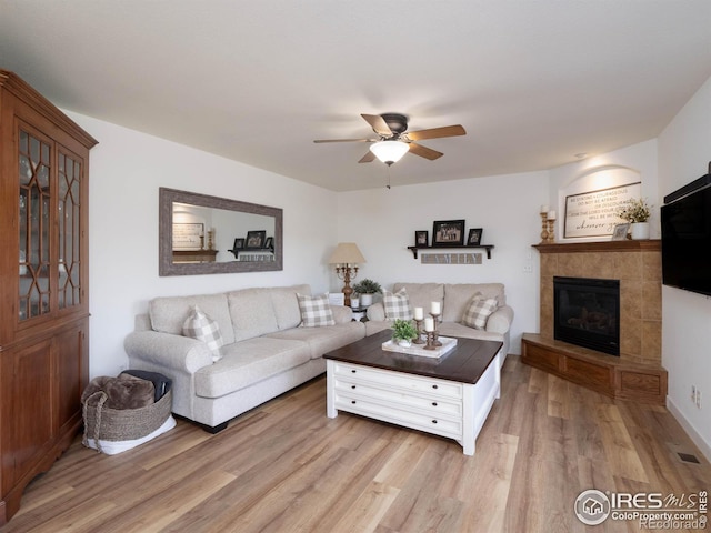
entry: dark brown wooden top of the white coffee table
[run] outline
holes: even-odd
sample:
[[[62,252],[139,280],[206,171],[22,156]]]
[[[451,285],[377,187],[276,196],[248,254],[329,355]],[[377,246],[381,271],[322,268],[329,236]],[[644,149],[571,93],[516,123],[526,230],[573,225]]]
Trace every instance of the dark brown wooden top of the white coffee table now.
[[[323,355],[324,359],[459,383],[477,383],[503,345],[499,341],[457,338],[457,346],[441,358],[423,358],[382,349],[392,331],[384,330]]]

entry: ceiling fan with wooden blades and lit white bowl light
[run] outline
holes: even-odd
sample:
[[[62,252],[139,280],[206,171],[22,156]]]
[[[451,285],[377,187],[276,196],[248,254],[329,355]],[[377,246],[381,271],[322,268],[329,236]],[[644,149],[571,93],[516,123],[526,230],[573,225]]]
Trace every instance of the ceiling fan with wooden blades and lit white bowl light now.
[[[375,158],[390,167],[398,162],[408,151],[433,161],[444,155],[442,152],[418,144],[423,139],[465,135],[460,124],[431,128],[428,130],[408,131],[408,118],[400,113],[361,114],[379,135],[378,139],[318,139],[313,142],[372,142],[370,150],[359,163],[370,163]]]

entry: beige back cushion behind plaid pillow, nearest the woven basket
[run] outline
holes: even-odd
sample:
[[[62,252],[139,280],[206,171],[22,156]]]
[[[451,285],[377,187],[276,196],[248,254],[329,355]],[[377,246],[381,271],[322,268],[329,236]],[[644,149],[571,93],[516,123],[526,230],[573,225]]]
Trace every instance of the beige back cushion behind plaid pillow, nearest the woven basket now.
[[[182,325],[196,305],[220,324],[220,333],[226,344],[234,342],[232,320],[224,293],[154,298],[148,303],[151,328],[161,333],[182,335]]]

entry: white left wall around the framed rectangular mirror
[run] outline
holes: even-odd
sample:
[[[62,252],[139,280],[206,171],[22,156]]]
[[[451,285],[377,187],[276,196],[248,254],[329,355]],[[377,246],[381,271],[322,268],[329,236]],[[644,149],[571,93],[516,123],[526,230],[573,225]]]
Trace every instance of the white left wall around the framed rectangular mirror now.
[[[310,283],[328,290],[336,193],[184,145],[68,112],[99,144],[90,155],[90,374],[128,364],[123,338],[153,296]],[[281,272],[158,275],[158,188],[283,209]],[[318,209],[309,207],[318,205]]]

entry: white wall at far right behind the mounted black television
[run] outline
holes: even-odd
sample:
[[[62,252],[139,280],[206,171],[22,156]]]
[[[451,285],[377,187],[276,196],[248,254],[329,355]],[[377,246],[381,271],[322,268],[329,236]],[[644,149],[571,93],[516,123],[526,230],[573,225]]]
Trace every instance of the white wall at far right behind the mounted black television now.
[[[659,137],[659,195],[708,172],[711,160],[711,78]],[[662,288],[662,364],[669,371],[667,404],[711,459],[711,299]],[[691,402],[691,385],[702,408]]]

